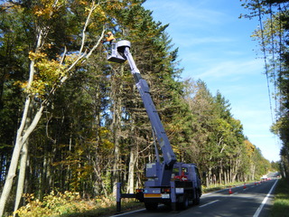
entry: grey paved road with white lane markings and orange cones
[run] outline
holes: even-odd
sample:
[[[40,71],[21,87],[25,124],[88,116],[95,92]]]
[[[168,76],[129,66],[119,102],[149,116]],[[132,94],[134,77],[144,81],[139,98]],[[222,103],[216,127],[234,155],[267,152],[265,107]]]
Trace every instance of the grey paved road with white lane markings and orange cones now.
[[[269,209],[274,196],[274,189],[277,180],[269,180],[261,184],[246,184],[216,193],[207,193],[200,198],[200,205],[190,206],[189,209],[181,212],[172,212],[166,206],[159,206],[156,212],[140,210],[137,212],[123,213],[115,217],[217,217],[217,216],[269,216]]]

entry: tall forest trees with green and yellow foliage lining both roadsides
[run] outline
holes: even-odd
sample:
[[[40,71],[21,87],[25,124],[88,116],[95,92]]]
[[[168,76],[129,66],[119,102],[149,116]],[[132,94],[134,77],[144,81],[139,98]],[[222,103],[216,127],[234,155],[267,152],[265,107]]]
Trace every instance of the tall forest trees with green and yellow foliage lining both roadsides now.
[[[280,107],[272,131],[283,141],[288,175],[287,1],[260,2],[244,2],[247,16],[281,8],[272,13],[279,32],[267,24],[256,37],[267,55],[280,54],[267,76],[275,64]],[[226,96],[204,80],[182,80],[168,24],[154,21],[144,0],[0,3],[0,216],[25,204],[24,194],[109,197],[117,182],[126,193],[144,184],[145,164],[155,160],[152,127],[128,64],[107,61],[107,31],[132,43],[174,153],[198,165],[204,186],[258,180],[276,167],[244,135]],[[282,46],[273,34],[282,34]]]

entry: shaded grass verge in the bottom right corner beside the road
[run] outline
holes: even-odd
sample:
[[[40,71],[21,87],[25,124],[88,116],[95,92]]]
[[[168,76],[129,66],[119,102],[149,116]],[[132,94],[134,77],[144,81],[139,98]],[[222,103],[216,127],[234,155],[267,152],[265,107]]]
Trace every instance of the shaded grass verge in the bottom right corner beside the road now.
[[[289,217],[289,179],[280,179],[275,188],[275,199],[270,217]]]

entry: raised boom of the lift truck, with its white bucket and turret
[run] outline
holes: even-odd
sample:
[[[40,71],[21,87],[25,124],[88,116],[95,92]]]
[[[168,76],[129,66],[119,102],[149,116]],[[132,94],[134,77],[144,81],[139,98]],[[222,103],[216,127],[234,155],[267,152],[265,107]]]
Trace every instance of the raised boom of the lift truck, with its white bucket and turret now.
[[[156,175],[158,179],[155,179],[154,185],[168,185],[172,176],[172,166],[176,162],[176,157],[172,151],[169,138],[167,137],[161,119],[154,107],[154,102],[151,98],[150,89],[140,74],[140,71],[135,65],[134,58],[130,52],[130,42],[120,41],[116,46],[113,45],[111,55],[107,57],[108,61],[124,62],[128,61],[131,72],[135,79],[135,85],[139,94],[144,102],[144,108],[151,121],[154,134],[157,138],[158,144],[161,146],[163,152],[163,164],[157,162],[156,164],[150,164],[146,168],[146,174],[149,176]]]

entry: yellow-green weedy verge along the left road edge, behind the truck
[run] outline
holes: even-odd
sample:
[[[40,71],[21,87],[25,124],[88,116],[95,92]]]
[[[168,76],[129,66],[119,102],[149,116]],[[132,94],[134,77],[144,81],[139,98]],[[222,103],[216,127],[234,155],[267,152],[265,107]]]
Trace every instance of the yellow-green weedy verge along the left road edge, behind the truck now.
[[[203,193],[215,192],[244,183],[214,184],[202,188]],[[96,198],[83,200],[79,193],[54,193],[45,196],[43,201],[34,198],[33,194],[26,196],[27,204],[17,211],[19,217],[98,217],[111,216],[116,213],[116,198]],[[122,199],[122,212],[144,208],[144,203],[134,199]],[[289,213],[289,212],[288,212]],[[280,216],[280,215],[279,215]]]

